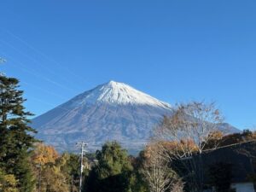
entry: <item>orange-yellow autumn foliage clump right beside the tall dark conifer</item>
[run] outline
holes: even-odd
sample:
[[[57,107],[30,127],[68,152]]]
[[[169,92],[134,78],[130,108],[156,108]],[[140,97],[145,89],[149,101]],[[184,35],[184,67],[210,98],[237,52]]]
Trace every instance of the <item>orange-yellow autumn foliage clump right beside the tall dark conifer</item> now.
[[[44,165],[47,163],[55,163],[55,160],[59,157],[59,154],[52,146],[38,143],[37,147],[33,151],[32,161],[35,164]]]

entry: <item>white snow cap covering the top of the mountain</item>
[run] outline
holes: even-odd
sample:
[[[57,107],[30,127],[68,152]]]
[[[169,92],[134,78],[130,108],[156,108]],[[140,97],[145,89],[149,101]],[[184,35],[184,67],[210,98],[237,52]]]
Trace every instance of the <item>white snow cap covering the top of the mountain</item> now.
[[[166,102],[160,102],[152,96],[132,88],[128,84],[109,81],[101,84],[93,90],[79,95],[75,100],[80,104],[106,102],[112,104],[150,105],[160,108],[171,108]]]

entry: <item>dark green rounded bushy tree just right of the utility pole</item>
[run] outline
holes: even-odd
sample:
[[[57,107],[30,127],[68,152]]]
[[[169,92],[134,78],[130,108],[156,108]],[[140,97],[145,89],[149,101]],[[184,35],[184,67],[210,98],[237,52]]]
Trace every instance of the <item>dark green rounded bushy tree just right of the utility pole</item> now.
[[[96,166],[85,178],[86,192],[131,191],[131,162],[119,143],[106,143],[96,151]]]

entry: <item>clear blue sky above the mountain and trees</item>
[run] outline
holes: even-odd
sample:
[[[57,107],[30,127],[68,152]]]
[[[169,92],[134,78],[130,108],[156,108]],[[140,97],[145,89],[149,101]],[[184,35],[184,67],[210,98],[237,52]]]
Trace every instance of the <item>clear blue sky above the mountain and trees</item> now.
[[[256,124],[256,1],[2,0],[1,71],[41,114],[110,79]]]

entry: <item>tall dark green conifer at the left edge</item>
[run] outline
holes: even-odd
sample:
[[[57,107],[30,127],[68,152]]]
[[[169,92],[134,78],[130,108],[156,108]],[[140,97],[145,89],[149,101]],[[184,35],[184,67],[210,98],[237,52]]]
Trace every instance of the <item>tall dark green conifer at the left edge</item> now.
[[[0,76],[0,168],[15,176],[20,192],[30,192],[34,182],[29,156],[36,139],[27,119],[32,113],[25,111],[26,100],[18,89],[18,79]]]

